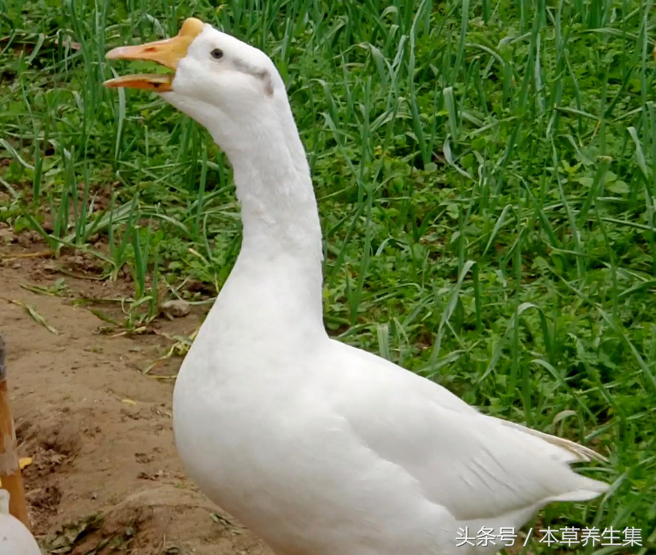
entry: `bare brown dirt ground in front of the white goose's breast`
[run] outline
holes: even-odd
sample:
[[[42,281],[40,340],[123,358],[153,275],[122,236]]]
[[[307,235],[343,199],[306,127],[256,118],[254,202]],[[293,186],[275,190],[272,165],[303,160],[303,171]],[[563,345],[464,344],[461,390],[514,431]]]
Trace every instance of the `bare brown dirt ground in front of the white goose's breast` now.
[[[0,241],[0,333],[20,457],[33,457],[24,482],[44,553],[271,555],[184,476],[171,421],[180,358],[158,365],[159,378],[142,373],[171,346],[162,333],[189,335],[202,312],[159,319],[159,333],[108,333],[93,304],[75,301],[132,286],[62,275],[61,261],[26,257],[43,244],[22,242]],[[58,296],[24,288],[62,277]]]

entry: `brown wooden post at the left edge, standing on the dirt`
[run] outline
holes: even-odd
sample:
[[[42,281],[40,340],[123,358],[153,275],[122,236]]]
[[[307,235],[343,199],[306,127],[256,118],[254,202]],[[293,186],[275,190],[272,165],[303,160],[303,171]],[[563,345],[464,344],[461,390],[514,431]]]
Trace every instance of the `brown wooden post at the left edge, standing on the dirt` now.
[[[16,448],[16,430],[7,393],[7,363],[5,340],[0,335],[0,482],[9,491],[9,512],[30,529],[25,491],[20,476]]]

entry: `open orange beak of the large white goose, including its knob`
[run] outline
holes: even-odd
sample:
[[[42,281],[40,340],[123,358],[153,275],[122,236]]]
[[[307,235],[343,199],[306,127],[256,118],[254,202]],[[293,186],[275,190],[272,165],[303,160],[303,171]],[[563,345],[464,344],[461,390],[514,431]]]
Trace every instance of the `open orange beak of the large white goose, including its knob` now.
[[[178,63],[187,55],[189,45],[203,30],[203,22],[190,17],[184,20],[180,32],[172,39],[155,41],[132,47],[118,47],[105,54],[108,60],[150,60],[157,62],[175,72]],[[123,75],[105,81],[105,87],[125,87],[130,89],[145,89],[165,93],[172,91],[175,73],[140,73],[139,75]]]

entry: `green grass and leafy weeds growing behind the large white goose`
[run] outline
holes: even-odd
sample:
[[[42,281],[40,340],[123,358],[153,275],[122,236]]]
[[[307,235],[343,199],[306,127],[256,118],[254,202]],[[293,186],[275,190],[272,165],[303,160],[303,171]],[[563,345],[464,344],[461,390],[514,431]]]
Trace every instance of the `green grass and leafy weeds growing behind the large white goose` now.
[[[157,97],[100,83],[113,75],[106,49],[171,35],[186,16],[234,33],[288,85],[323,222],[331,333],[487,413],[608,453],[589,474],[611,493],[554,504],[541,525],[639,527],[642,549],[576,551],[647,554],[653,8],[0,0],[0,221],[50,222],[41,231],[58,249],[95,251],[100,234],[104,275],[129,264],[135,310],[151,316],[157,280],[192,299],[187,279],[220,288],[240,230],[224,155]]]

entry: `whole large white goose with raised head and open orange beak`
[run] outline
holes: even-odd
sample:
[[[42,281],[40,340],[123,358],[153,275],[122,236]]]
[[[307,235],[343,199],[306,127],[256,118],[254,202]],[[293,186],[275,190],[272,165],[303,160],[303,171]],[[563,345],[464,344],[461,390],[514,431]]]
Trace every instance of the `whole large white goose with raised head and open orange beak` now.
[[[161,94],[234,168],[241,253],[173,396],[178,452],[208,497],[276,555],[467,555],[500,546],[457,546],[462,529],[520,527],[551,501],[607,491],[569,468],[594,451],[328,337],[312,180],[266,54],[189,18],[107,57],[174,70],[105,84]]]

